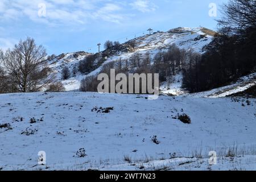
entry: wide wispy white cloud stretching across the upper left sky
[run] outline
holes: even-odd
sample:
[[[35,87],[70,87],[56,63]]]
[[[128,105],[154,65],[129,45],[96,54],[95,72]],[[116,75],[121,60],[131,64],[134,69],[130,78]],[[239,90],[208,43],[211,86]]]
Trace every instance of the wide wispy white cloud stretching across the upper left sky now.
[[[102,19],[119,23],[126,16],[119,12],[122,8],[109,0],[13,0],[0,2],[1,20],[21,19],[24,16],[34,22],[48,24],[84,24],[90,19]],[[39,17],[39,3],[46,5],[46,17]],[[7,7],[7,9],[6,9]]]

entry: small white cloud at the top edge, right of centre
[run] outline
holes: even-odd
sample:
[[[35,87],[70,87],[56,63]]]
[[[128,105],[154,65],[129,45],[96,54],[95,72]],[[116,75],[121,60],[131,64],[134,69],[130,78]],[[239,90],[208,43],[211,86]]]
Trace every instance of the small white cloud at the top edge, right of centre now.
[[[142,13],[148,13],[151,11],[155,11],[158,7],[150,2],[149,0],[136,0],[133,3],[130,3],[133,9],[139,10]]]

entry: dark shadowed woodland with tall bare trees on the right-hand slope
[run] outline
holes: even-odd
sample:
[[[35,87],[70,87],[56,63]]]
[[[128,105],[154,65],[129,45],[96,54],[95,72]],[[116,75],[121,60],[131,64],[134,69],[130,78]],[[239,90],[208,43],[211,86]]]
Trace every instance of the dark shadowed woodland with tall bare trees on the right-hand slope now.
[[[222,7],[219,31],[199,61],[184,70],[184,87],[199,92],[229,84],[256,68],[256,1],[232,0]]]

